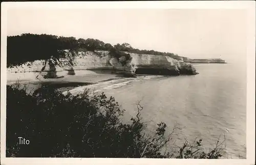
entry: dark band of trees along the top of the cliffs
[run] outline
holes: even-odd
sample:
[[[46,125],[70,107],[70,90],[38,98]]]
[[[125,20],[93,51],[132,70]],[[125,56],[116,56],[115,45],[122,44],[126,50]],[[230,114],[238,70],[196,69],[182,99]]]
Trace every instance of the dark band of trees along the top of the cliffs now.
[[[157,56],[169,56],[178,58],[177,54],[160,52],[155,50],[140,50],[133,48],[128,43],[111,45],[98,39],[82,39],[75,37],[58,37],[54,35],[22,34],[20,36],[7,37],[7,66],[18,65],[28,61],[45,60],[50,57],[59,58],[61,50],[95,51],[107,50],[114,57],[123,56],[121,51],[138,54],[155,54]]]

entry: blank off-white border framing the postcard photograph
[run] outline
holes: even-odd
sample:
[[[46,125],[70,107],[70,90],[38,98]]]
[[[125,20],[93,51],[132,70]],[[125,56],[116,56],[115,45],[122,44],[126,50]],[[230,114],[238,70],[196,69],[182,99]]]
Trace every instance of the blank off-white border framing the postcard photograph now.
[[[245,9],[247,10],[247,159],[6,158],[6,37],[10,8]],[[2,164],[255,164],[255,1],[4,2],[1,3],[1,163]]]

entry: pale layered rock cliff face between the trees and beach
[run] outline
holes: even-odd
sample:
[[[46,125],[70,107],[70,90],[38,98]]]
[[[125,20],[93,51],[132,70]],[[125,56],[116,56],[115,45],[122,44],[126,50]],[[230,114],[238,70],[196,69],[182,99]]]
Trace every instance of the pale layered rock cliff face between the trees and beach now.
[[[197,74],[196,69],[191,64],[183,62],[182,59],[178,61],[170,57],[152,54],[129,54],[131,59],[126,59],[124,56],[116,59],[111,57],[108,51],[82,51],[72,54],[66,50],[65,57],[59,60],[38,60],[7,68],[7,79],[15,77],[14,73],[24,73],[25,76],[25,73],[28,72],[31,73],[29,74],[30,78],[31,76],[57,78],[67,74],[74,75],[78,70],[101,70],[103,73],[104,70],[107,70],[129,76],[135,76],[136,74]]]

